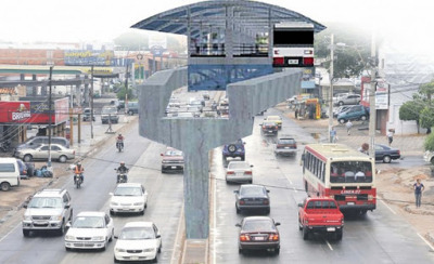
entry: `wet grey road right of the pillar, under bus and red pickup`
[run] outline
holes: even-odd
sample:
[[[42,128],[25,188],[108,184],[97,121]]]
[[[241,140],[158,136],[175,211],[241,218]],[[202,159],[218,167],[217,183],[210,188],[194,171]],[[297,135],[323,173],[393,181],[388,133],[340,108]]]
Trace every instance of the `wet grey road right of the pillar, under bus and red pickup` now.
[[[278,114],[269,110],[266,115]],[[306,194],[302,185],[299,157],[303,144],[314,143],[310,134],[292,120],[284,119],[280,135],[292,135],[301,149],[296,157],[276,158],[272,151],[272,137],[260,135],[259,123],[263,117],[255,118],[253,135],[245,137],[246,160],[254,164],[253,183],[266,185],[270,189],[270,216],[281,223],[280,255],[267,252],[238,253],[237,223],[246,214],[237,214],[233,190],[235,184],[225,182],[221,149],[214,151],[212,174],[215,181],[215,200],[210,237],[213,263],[434,263],[432,249],[417,232],[399,215],[394,214],[383,202],[366,216],[345,216],[342,241],[315,236],[303,240],[297,226],[297,203]],[[396,162],[397,163],[397,162]],[[383,164],[378,163],[379,167]],[[395,162],[387,166],[395,166]]]

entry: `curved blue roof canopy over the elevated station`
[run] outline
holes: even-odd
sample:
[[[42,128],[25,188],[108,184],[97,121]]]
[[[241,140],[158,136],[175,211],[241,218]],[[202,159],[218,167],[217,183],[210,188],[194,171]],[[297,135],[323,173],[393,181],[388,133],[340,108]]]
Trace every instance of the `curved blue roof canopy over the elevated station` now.
[[[132,28],[199,37],[200,34],[225,30],[228,19],[233,18],[238,30],[251,32],[268,31],[270,25],[280,22],[305,22],[319,32],[326,27],[297,12],[263,2],[246,0],[203,1],[176,8],[146,19]],[[235,29],[237,29],[235,28]]]

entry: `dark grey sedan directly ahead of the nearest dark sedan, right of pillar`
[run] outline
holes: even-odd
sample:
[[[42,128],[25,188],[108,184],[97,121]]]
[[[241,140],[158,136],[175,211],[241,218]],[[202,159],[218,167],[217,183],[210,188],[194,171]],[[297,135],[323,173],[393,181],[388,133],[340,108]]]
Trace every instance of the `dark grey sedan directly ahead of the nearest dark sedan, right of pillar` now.
[[[268,190],[261,185],[243,184],[239,189],[233,190],[235,194],[237,213],[242,211],[264,211],[270,213],[270,197]]]

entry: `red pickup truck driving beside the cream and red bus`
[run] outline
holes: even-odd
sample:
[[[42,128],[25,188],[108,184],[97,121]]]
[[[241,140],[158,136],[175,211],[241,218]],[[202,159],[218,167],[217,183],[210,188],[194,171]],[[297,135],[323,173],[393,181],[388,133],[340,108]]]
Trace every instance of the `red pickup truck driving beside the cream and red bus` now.
[[[342,239],[344,215],[332,198],[306,198],[298,203],[298,229],[303,230],[303,239],[310,233],[334,234],[336,240]]]

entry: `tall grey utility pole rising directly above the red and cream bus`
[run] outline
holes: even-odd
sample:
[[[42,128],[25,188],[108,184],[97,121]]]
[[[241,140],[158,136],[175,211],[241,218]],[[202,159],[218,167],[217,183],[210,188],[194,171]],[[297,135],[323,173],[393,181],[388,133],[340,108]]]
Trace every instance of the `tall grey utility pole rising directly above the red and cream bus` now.
[[[376,123],[376,108],[375,108],[375,87],[376,87],[376,52],[375,52],[375,37],[372,34],[371,43],[371,83],[369,89],[369,157],[375,158],[375,123]]]

